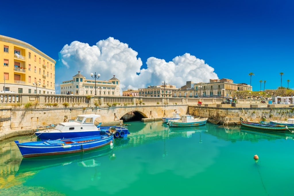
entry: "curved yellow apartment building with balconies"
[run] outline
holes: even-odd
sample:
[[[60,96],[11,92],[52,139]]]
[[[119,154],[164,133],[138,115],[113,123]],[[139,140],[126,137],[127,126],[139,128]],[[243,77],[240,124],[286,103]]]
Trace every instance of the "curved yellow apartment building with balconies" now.
[[[3,35],[0,46],[0,91],[55,94],[56,62],[52,58],[24,41]]]

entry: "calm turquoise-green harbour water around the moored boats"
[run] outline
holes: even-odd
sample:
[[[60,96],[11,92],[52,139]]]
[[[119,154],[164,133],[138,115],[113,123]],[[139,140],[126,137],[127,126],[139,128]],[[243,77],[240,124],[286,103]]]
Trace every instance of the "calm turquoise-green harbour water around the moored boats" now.
[[[293,195],[290,133],[161,121],[128,128],[113,149],[50,159],[23,159],[14,142],[2,141],[0,195]]]

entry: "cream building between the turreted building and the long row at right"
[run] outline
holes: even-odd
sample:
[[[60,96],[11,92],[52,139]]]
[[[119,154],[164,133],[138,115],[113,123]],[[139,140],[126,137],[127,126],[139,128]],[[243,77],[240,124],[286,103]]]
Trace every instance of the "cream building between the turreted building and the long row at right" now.
[[[172,91],[177,90],[176,86],[170,84],[162,84],[158,86],[147,86],[138,90],[139,96],[144,97],[172,97]]]

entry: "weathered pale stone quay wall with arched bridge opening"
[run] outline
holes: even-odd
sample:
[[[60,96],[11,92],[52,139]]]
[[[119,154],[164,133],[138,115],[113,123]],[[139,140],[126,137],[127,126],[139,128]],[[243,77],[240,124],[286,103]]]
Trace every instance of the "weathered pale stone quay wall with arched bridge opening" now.
[[[113,98],[113,97],[111,97]],[[119,97],[121,98],[121,97]],[[190,114],[208,118],[218,124],[236,124],[240,117],[248,121],[285,120],[294,118],[294,107],[290,104],[238,103],[220,104],[222,99],[195,98],[141,98],[123,97],[128,100],[110,98],[91,98],[88,103],[62,103],[58,105],[38,102],[29,108],[26,104],[8,103],[0,106],[0,139],[34,133],[37,129],[50,128],[51,125],[75,119],[80,114],[99,114],[102,125],[122,124],[123,115],[136,113],[142,121],[161,120],[173,113]],[[99,102],[99,100],[107,102]],[[131,99],[131,100],[129,100]],[[141,101],[140,101],[141,100]],[[144,100],[144,102],[142,101]],[[202,103],[200,104],[199,101]],[[100,103],[101,105],[95,104]]]

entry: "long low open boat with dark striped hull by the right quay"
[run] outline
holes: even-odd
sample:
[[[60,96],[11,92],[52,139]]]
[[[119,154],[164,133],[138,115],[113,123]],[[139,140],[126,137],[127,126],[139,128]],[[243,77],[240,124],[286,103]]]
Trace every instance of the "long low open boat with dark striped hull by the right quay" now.
[[[241,126],[251,129],[263,130],[263,131],[273,131],[285,133],[286,130],[290,131],[286,125],[271,125],[271,124],[260,124],[251,123],[247,121],[240,120]],[[292,132],[292,131],[290,131]]]

